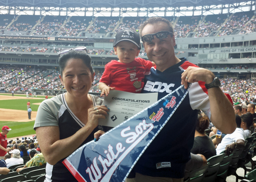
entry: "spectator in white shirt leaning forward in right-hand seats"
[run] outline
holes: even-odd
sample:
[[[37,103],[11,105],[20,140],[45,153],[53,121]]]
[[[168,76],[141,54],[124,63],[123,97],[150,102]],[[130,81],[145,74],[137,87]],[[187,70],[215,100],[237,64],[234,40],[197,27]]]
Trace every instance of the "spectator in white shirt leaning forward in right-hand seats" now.
[[[241,117],[236,115],[237,128],[233,133],[226,134],[226,136],[224,136],[221,143],[216,148],[217,155],[230,146],[232,149],[243,149],[245,144],[245,134],[243,128],[241,128],[241,122]],[[232,151],[230,151],[230,153],[232,153]]]

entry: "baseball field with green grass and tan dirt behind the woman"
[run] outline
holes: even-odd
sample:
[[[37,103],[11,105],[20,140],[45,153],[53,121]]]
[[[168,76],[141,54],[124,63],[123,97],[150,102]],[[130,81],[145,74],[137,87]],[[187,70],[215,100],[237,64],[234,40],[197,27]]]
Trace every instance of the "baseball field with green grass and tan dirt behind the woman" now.
[[[12,97],[12,94],[0,94],[0,127],[7,125],[12,129],[7,134],[8,139],[36,134],[33,126],[38,107],[44,100],[45,96],[26,98],[26,95],[14,94]],[[27,114],[28,101],[32,110],[31,119]]]

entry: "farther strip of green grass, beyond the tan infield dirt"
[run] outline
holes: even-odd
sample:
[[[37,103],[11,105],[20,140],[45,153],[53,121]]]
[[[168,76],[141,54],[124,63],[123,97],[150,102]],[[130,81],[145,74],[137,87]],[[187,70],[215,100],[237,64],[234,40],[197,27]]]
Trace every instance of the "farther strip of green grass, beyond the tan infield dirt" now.
[[[41,103],[44,99],[13,99],[13,100],[0,100],[0,108],[2,109],[15,109],[27,111],[27,101],[30,102],[30,107],[33,111],[37,111],[39,105],[34,105],[33,103]],[[15,114],[15,111],[13,112]]]

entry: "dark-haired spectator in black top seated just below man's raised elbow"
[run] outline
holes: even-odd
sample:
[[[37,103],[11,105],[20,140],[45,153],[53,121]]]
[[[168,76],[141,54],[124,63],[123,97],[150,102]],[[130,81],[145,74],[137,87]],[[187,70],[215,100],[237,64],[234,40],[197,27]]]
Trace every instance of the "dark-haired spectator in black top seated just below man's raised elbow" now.
[[[216,149],[212,143],[212,140],[204,132],[209,126],[209,118],[198,115],[194,146],[191,149],[193,154],[202,154],[206,159],[216,155]]]

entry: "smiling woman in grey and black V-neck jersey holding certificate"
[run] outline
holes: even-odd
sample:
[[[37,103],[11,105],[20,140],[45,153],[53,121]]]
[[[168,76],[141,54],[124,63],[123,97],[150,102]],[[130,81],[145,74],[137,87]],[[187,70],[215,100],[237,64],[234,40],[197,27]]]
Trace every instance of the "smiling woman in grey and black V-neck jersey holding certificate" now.
[[[61,162],[104,133],[98,131],[103,129],[98,120],[106,118],[109,109],[101,106],[102,99],[88,94],[95,74],[90,56],[71,49],[60,56],[59,67],[67,93],[42,102],[34,129],[47,161],[45,181],[72,182],[77,180]]]

